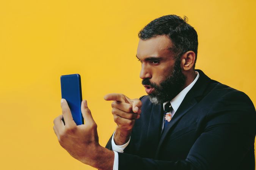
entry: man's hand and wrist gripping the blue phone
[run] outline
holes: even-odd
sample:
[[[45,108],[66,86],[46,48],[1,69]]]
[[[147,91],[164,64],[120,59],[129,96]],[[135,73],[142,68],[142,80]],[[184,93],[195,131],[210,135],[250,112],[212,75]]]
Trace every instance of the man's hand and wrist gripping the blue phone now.
[[[102,170],[112,170],[113,151],[99,145],[97,124],[93,120],[87,101],[83,100],[81,111],[85,124],[76,125],[68,103],[61,99],[62,114],[53,121],[53,130],[60,145],[75,159]],[[64,118],[64,122],[61,120]]]

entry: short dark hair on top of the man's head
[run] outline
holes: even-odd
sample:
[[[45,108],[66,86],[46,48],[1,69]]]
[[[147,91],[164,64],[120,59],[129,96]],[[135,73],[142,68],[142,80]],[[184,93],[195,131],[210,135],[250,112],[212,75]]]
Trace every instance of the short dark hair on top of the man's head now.
[[[194,51],[197,58],[198,39],[196,30],[187,23],[187,17],[182,19],[177,15],[165,15],[152,20],[138,33],[142,40],[158,35],[167,35],[173,43],[175,59],[179,59],[187,51]],[[196,62],[195,58],[195,62]],[[194,65],[195,68],[195,65]]]

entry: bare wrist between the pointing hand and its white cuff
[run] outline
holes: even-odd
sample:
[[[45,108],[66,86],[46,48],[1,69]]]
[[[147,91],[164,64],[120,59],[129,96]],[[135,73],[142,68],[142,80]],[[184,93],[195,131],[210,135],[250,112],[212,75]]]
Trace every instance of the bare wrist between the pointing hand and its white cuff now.
[[[114,141],[116,145],[123,145],[126,144],[130,139],[130,134],[132,130],[124,131],[116,128]]]

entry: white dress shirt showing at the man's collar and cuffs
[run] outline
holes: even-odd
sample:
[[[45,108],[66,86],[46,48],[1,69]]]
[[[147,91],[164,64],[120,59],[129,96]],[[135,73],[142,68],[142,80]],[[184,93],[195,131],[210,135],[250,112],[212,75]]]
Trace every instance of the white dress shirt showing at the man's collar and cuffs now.
[[[193,85],[196,83],[196,81],[198,80],[199,78],[199,73],[197,71],[196,72],[196,78],[195,80],[193,80],[192,83],[190,83],[190,85],[188,85],[186,88],[184,88],[179,94],[177,94],[177,96],[175,96],[171,101],[171,106],[172,106],[172,110],[171,110],[171,117],[173,117],[174,113],[178,110],[179,106],[181,105],[181,102],[183,101],[183,99],[185,98],[186,94],[188,93],[188,91],[193,87]],[[168,102],[165,102],[163,103],[163,108],[165,108],[165,105],[167,104]],[[163,130],[163,125],[164,125],[164,117],[163,117],[163,121],[162,121],[162,130]],[[114,142],[114,135],[115,135],[115,132],[112,136],[112,141],[111,141],[111,145],[112,145],[112,150],[114,151],[115,153],[115,159],[114,159],[114,165],[113,165],[113,170],[118,170],[118,152],[120,153],[123,153],[124,152],[124,149],[127,147],[127,145],[129,144],[130,142],[130,139],[129,141],[124,144],[124,145],[116,145],[115,142]]]

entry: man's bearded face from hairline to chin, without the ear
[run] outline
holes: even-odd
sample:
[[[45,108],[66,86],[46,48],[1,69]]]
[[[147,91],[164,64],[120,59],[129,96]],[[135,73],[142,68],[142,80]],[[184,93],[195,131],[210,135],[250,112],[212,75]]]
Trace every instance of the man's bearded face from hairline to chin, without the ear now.
[[[141,62],[140,78],[153,104],[173,99],[185,83],[180,60],[176,60],[172,42],[156,36],[138,43],[137,58]]]

